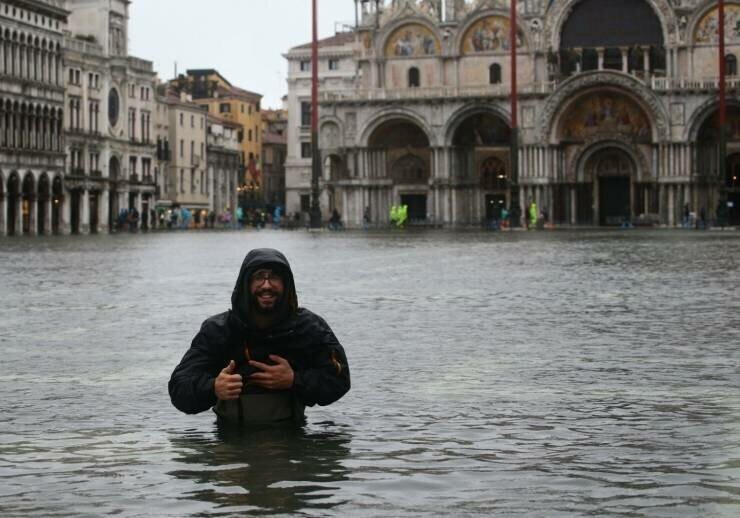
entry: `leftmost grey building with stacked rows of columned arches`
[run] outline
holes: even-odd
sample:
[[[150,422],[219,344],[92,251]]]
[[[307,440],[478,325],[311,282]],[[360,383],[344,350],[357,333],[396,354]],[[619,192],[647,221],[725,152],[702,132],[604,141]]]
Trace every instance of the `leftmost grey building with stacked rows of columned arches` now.
[[[0,1],[0,236],[65,229],[64,4]]]

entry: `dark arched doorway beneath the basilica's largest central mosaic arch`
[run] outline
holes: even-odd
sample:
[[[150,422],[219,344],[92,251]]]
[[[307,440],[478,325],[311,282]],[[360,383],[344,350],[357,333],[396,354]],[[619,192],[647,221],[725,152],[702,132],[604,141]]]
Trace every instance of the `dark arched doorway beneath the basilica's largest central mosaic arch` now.
[[[585,164],[586,177],[593,180],[594,222],[602,226],[618,226],[625,219],[632,221],[632,179],[637,168],[626,151],[605,147],[591,155]]]

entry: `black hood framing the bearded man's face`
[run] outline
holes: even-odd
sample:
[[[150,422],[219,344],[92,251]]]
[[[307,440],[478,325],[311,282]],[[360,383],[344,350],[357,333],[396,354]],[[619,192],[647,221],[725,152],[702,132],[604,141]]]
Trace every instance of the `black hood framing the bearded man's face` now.
[[[236,279],[236,286],[231,293],[231,310],[244,324],[251,324],[249,304],[252,297],[249,293],[249,278],[255,271],[268,266],[279,271],[283,276],[284,291],[278,307],[279,320],[289,318],[298,312],[298,296],[288,259],[272,248],[255,248],[244,258],[239,277]]]

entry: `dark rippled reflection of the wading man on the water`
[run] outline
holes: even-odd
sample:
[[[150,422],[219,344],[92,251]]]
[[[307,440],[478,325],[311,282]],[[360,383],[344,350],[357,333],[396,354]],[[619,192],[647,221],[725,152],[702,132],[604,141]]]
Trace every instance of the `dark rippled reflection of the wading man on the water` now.
[[[172,461],[181,467],[169,475],[194,484],[184,498],[259,513],[328,510],[344,503],[337,492],[349,473],[348,435],[215,425],[212,435],[190,432],[170,442]]]

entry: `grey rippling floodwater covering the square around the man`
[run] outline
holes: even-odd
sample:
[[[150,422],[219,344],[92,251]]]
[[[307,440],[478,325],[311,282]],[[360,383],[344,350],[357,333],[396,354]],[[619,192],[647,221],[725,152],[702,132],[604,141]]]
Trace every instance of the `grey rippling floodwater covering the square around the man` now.
[[[283,250],[350,393],[298,430],[169,375]],[[740,232],[0,239],[0,515],[738,516]]]

